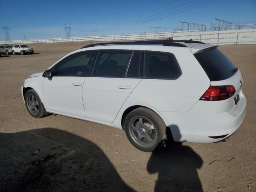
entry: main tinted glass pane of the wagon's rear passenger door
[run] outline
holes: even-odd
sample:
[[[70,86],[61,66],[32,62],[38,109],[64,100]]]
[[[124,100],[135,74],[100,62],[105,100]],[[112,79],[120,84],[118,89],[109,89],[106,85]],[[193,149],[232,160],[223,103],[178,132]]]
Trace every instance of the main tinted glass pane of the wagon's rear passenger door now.
[[[93,76],[124,77],[132,51],[102,50],[98,54]]]

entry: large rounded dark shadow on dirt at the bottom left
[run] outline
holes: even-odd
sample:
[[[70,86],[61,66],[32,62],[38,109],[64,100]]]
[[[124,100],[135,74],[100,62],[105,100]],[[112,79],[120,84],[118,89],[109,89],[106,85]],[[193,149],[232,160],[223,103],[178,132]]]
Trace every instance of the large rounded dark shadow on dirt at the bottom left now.
[[[0,191],[132,192],[94,143],[62,130],[0,133]]]

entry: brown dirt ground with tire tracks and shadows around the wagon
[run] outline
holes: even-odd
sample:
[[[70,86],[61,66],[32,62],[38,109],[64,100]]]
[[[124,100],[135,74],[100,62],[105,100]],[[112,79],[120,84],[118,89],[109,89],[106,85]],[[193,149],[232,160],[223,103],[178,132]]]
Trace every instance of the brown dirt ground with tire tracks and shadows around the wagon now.
[[[226,142],[134,148],[125,132],[59,115],[28,114],[20,88],[86,42],[33,44],[0,58],[0,191],[256,191],[256,45],[220,46],[244,76],[244,122]]]

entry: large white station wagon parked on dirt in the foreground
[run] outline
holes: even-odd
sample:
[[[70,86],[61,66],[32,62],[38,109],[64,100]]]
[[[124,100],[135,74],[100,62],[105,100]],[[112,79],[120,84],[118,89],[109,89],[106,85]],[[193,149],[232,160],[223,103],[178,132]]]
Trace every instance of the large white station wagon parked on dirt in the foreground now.
[[[155,150],[170,129],[180,142],[219,142],[245,116],[243,77],[218,50],[196,41],[91,44],[61,58],[22,86],[28,112],[123,129]]]

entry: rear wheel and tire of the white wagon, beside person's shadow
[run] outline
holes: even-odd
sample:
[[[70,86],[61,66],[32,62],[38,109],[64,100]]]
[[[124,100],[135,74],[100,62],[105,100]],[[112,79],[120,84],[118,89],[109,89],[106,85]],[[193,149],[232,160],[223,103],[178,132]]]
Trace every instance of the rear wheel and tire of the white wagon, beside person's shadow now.
[[[125,119],[126,136],[134,147],[144,152],[160,148],[166,140],[166,125],[162,118],[148,108],[137,108]]]

